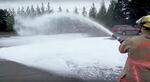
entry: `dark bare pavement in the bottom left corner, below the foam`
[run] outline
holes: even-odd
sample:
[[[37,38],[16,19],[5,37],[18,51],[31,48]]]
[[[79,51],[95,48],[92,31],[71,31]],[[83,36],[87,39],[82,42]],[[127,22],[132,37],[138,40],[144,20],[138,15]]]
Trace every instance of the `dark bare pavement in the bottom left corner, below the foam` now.
[[[0,59],[0,82],[83,82]]]

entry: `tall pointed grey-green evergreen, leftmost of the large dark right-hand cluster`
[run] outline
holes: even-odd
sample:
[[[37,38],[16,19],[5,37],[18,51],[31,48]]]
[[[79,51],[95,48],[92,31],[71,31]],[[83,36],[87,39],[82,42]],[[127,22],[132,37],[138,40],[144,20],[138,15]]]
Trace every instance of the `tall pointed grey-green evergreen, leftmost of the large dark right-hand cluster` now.
[[[105,7],[105,2],[104,2],[104,0],[103,0],[103,2],[102,2],[102,4],[101,4],[101,8],[100,8],[100,10],[99,10],[99,12],[98,12],[98,14],[97,14],[97,20],[98,20],[101,24],[103,24],[103,25],[105,25],[105,22],[107,21],[107,19],[106,19],[106,7]]]

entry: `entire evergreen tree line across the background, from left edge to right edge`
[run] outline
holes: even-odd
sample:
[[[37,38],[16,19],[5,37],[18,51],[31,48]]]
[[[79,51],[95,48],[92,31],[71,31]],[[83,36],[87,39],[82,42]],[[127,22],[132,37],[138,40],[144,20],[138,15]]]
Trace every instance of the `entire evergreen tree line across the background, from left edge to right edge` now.
[[[64,11],[70,13],[69,9],[64,10],[61,6],[58,7],[57,12]],[[41,6],[37,5],[36,8],[31,5],[26,8],[19,7],[17,11],[15,11],[15,9],[0,9],[0,31],[13,31],[14,16],[16,15],[34,17],[55,12],[56,11],[50,7],[49,2],[46,7],[41,3]],[[75,7],[73,13],[79,14],[77,7]],[[148,0],[111,0],[108,9],[106,9],[103,0],[100,9],[97,10],[93,3],[89,11],[83,7],[80,14],[111,29],[114,25],[135,25],[137,19],[150,14],[150,4],[148,4]]]

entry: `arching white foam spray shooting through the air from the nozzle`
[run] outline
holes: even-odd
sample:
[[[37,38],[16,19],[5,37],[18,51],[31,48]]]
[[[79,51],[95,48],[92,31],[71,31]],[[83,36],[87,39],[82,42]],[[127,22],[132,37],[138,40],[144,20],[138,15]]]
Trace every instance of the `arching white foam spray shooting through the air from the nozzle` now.
[[[45,14],[34,18],[17,16],[15,20],[15,30],[19,35],[56,34],[70,32],[70,30],[79,32],[81,27],[81,29],[96,28],[112,35],[108,29],[89,18],[68,13]],[[80,32],[83,32],[81,29]]]

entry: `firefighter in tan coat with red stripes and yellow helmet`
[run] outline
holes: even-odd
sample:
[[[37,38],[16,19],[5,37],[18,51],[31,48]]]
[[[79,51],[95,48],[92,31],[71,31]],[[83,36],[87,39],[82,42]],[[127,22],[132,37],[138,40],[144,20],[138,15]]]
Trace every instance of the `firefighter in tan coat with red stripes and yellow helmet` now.
[[[137,23],[141,26],[140,35],[127,38],[119,46],[121,53],[128,53],[119,82],[150,82],[150,15]]]

